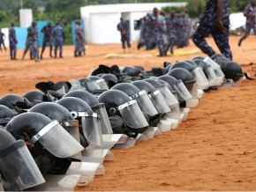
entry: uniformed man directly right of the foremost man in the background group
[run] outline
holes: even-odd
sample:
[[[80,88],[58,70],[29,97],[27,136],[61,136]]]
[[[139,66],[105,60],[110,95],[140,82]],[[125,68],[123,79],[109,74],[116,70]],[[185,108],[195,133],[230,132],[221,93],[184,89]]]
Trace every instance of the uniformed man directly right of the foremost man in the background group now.
[[[176,17],[176,12],[174,10],[170,11],[169,17],[166,19],[167,32],[169,35],[169,47],[170,53],[173,54],[173,47],[177,43],[177,25],[178,18]]]

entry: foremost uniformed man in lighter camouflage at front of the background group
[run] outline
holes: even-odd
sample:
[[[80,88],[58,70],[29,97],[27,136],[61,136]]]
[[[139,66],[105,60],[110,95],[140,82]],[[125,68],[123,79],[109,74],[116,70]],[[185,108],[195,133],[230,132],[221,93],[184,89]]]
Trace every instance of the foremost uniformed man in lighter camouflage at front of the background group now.
[[[162,28],[163,31],[159,32],[159,38],[160,38],[160,44],[162,47],[162,55],[167,55],[167,51],[169,49],[169,38],[167,33],[167,26],[166,26],[166,20],[165,20],[165,12],[161,11],[160,16],[158,18],[158,22]]]

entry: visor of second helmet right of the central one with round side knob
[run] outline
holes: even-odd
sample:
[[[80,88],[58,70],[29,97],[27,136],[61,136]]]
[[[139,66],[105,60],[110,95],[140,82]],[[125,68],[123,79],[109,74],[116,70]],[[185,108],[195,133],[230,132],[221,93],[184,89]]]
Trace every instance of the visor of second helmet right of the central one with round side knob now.
[[[159,90],[156,90],[155,92],[148,95],[150,100],[153,102],[154,107],[160,114],[166,114],[170,112],[170,108],[168,107],[168,104],[162,97],[162,93]]]

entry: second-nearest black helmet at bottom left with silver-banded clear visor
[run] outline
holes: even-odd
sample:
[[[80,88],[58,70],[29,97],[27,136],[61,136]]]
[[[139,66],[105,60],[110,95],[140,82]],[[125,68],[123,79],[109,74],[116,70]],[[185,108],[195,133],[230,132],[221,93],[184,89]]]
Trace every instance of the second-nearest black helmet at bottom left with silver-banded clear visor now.
[[[83,147],[59,122],[50,120],[44,114],[34,112],[19,114],[6,125],[5,129],[16,139],[26,141],[31,150],[42,145],[58,158],[68,158],[83,150]]]

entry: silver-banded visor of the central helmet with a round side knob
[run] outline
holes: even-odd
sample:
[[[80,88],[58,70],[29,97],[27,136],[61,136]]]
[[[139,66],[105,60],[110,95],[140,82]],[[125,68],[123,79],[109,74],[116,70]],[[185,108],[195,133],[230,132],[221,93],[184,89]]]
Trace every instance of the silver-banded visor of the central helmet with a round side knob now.
[[[133,129],[145,128],[148,126],[148,122],[141,112],[136,100],[131,100],[118,107],[120,114],[122,115],[124,122]]]

